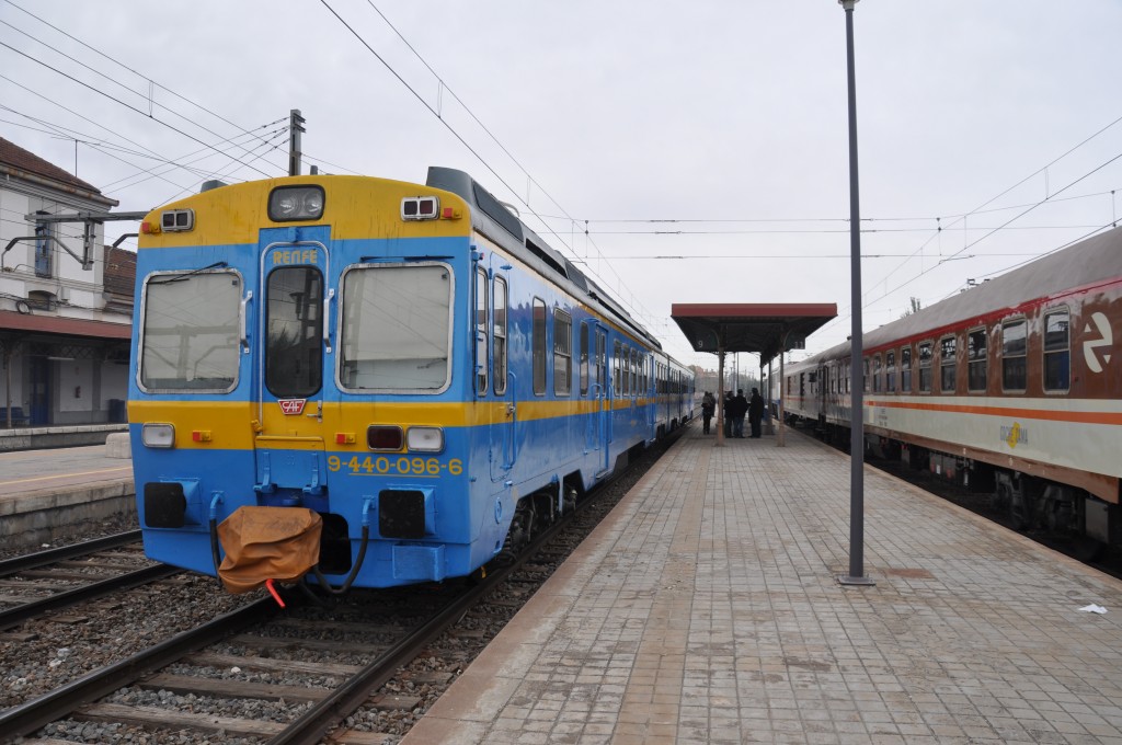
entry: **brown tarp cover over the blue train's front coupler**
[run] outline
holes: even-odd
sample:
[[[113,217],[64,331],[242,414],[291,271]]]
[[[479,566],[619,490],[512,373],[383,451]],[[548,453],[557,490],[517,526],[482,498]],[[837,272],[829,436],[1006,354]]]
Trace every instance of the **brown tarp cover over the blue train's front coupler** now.
[[[320,560],[322,527],[323,519],[304,507],[239,507],[218,526],[222,585],[238,595],[268,579],[300,579]]]

